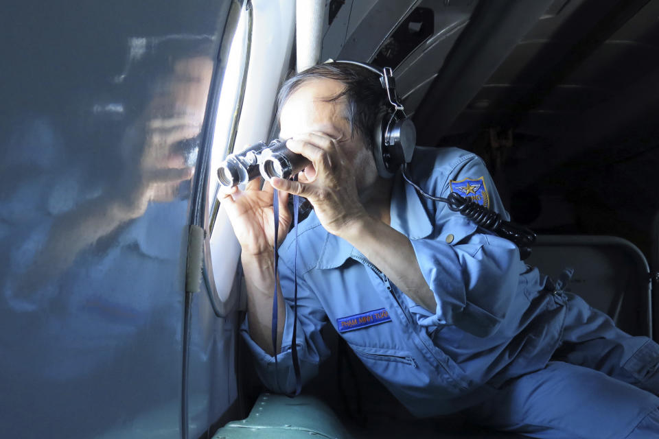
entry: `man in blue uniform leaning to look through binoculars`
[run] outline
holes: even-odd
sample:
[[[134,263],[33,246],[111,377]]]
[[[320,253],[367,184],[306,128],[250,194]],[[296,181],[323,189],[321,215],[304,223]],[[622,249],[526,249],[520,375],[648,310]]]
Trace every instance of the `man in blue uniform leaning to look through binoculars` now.
[[[371,133],[388,105],[379,78],[352,64],[312,67],[279,95],[281,139],[311,161],[298,182],[228,191],[242,245],[244,324],[259,375],[290,392],[292,294],[302,378],[327,357],[329,322],[365,366],[417,416],[461,410],[476,422],[538,438],[659,437],[659,346],[632,337],[581,298],[520,261],[518,248],[419,197],[400,173],[378,176]],[[458,191],[507,218],[483,161],[456,148],[417,147],[411,180]],[[277,362],[273,187],[314,206],[279,246]],[[233,195],[233,196],[232,196]],[[290,214],[280,197],[280,228]]]

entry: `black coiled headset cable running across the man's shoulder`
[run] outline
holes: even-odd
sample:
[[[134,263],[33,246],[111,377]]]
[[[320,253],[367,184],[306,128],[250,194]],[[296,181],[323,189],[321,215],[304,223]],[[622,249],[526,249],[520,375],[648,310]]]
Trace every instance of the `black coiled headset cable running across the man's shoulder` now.
[[[445,202],[451,211],[459,212],[461,215],[471,219],[477,226],[512,241],[520,249],[520,258],[522,260],[531,256],[531,246],[535,243],[536,237],[533,230],[513,222],[504,221],[498,213],[463,197],[459,193],[451,192],[447,198],[436,197],[426,193],[426,191],[421,189],[407,176],[407,164],[404,164],[402,167],[402,175],[405,181],[416,189],[419,195],[428,198],[428,200]]]

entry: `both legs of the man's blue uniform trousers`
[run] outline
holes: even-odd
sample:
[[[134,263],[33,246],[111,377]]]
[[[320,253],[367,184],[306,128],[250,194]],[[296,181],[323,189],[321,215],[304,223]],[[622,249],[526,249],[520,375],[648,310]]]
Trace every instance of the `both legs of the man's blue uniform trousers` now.
[[[579,296],[564,298],[554,361],[506,381],[474,416],[537,438],[659,438],[659,345],[616,328]]]

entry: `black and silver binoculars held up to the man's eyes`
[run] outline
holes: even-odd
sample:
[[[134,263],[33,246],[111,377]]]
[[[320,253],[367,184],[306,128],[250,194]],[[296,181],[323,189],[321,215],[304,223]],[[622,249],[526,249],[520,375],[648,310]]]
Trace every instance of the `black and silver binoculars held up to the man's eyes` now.
[[[255,143],[245,150],[230,154],[218,168],[220,184],[226,187],[242,185],[259,175],[288,179],[304,169],[310,161],[286,147],[286,141]]]

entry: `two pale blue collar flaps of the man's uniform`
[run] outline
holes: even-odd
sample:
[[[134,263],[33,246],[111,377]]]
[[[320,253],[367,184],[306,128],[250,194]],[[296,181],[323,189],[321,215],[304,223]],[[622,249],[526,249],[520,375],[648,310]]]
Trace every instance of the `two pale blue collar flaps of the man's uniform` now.
[[[419,195],[411,185],[406,185],[400,173],[395,177],[391,193],[391,226],[410,239],[425,238],[432,232],[432,224]],[[324,230],[324,229],[323,229]],[[327,233],[327,232],[325,232]],[[350,257],[364,258],[348,241],[327,233],[321,251],[318,268],[336,268]]]

